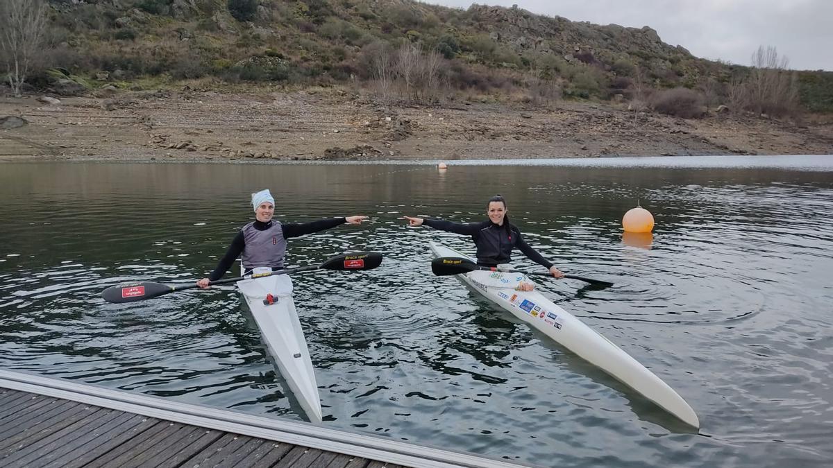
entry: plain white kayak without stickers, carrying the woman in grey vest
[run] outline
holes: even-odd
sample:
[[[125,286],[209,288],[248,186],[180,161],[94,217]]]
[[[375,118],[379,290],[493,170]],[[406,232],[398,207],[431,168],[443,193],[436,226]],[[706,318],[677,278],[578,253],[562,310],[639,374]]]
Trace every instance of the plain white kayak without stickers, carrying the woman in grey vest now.
[[[255,268],[254,273],[272,271],[271,268]],[[260,328],[269,354],[277,364],[289,389],[301,404],[310,421],[321,422],[321,398],[307,340],[298,321],[295,302],[292,301],[292,279],[287,275],[265,276],[238,281],[249,309]],[[267,295],[273,303],[263,303]]]

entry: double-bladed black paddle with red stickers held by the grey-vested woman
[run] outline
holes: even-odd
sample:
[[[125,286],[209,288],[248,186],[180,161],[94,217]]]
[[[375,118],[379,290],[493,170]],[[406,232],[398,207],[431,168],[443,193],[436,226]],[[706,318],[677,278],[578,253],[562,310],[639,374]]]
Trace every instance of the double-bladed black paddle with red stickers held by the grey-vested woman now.
[[[373,268],[379,266],[380,263],[382,263],[381,253],[375,251],[362,251],[333,256],[332,258],[327,259],[327,261],[324,261],[321,265],[297,266],[296,268],[287,268],[286,270],[237,276],[236,278],[228,278],[226,280],[210,281],[208,284],[226,284],[252,278],[262,278],[265,276],[288,275],[290,273],[297,273],[298,271],[318,270],[320,268],[335,271],[372,270]],[[102,297],[107,302],[135,302],[164,296],[165,294],[169,294],[171,292],[185,291],[186,289],[193,289],[196,287],[199,286],[196,284],[166,285],[151,281],[132,282],[118,286],[110,286],[102,292]]]

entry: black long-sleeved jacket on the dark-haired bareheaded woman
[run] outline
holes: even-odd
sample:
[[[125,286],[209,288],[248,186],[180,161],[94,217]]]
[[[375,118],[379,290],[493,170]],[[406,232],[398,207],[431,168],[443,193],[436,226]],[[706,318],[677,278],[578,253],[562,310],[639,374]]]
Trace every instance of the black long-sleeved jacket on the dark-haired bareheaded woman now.
[[[508,230],[506,226],[498,226],[491,220],[461,224],[441,219],[425,218],[422,220],[422,224],[440,231],[471,236],[471,240],[477,246],[477,264],[481,266],[509,263],[513,247],[517,247],[531,261],[544,266],[547,270],[552,266],[551,261],[547,261],[523,240],[521,230],[511,223],[508,224]]]

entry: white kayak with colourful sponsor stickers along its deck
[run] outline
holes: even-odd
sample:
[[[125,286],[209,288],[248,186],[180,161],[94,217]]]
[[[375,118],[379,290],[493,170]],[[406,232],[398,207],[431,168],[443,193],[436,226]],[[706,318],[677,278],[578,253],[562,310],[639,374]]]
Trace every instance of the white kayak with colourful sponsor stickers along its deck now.
[[[460,252],[431,242],[435,256],[458,256]],[[592,365],[610,374],[616,380],[631,387],[662,409],[691,426],[700,427],[700,421],[691,406],[666,382],[642,366],[619,346],[593,331],[571,313],[556,306],[538,291],[516,291],[519,281],[530,281],[521,273],[501,271],[470,271],[456,275],[490,301],[501,306],[513,316],[526,322],[561,346],[576,353]]]

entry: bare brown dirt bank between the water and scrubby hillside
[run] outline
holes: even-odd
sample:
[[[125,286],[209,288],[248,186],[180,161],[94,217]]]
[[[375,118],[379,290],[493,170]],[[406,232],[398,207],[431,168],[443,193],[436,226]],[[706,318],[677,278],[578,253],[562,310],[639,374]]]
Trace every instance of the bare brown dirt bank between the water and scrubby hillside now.
[[[833,154],[833,123],[713,113],[686,120],[561,102],[384,107],[333,89],[291,93],[117,92],[0,98],[0,161],[286,161]]]

